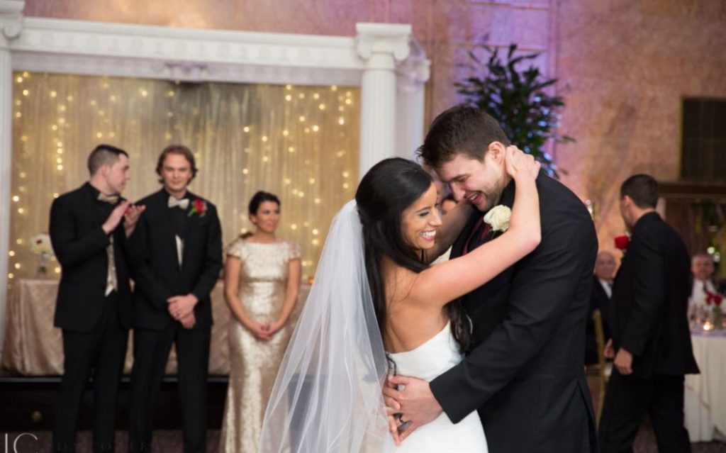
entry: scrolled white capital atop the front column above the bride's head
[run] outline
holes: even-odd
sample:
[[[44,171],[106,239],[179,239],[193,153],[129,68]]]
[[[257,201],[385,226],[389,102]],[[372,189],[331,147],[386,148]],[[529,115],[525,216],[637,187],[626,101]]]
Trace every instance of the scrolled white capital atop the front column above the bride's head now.
[[[395,62],[401,62],[411,53],[411,25],[356,23],[356,52],[359,57],[371,62],[376,54],[391,56],[391,69]]]

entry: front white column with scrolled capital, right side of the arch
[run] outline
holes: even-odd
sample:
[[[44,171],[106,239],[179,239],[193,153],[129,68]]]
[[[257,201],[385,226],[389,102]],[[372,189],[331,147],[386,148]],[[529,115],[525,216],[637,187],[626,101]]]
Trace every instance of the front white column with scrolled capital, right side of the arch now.
[[[396,155],[396,62],[409,56],[411,25],[356,24],[361,81],[359,177]]]

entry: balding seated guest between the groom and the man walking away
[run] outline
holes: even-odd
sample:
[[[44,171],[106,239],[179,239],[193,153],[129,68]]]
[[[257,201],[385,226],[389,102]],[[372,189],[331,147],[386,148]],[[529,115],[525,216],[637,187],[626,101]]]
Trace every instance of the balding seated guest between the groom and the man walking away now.
[[[595,275],[592,277],[592,292],[590,293],[590,310],[587,315],[585,327],[585,364],[597,363],[597,342],[595,341],[595,321],[592,314],[600,310],[600,319],[603,320],[603,335],[605,340],[610,338],[610,298],[613,295],[613,275],[615,274],[615,257],[612,253],[601,251],[595,260]]]

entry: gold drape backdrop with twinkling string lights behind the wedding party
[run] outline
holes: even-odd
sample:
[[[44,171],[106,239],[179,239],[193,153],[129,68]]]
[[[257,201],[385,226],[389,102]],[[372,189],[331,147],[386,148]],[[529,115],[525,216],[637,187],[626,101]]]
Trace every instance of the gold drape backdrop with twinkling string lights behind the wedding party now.
[[[315,264],[331,219],[354,197],[359,89],[171,83],[46,73],[13,81],[12,216],[9,283],[35,276],[30,239],[48,229],[54,197],[88,179],[99,143],[129,152],[131,200],[160,188],[155,167],[171,143],[195,152],[190,189],[214,203],[225,244],[251,228],[258,189],[282,202],[278,234],[303,246],[303,277]],[[60,268],[49,262],[49,275]]]

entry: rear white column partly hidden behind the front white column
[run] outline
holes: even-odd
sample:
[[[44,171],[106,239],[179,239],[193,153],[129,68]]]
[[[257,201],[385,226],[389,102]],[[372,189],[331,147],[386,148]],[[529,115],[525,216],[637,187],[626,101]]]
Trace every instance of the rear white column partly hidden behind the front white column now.
[[[415,151],[423,143],[425,88],[430,66],[423,49],[414,41],[411,56],[396,70],[396,155],[400,158],[415,158]]]

